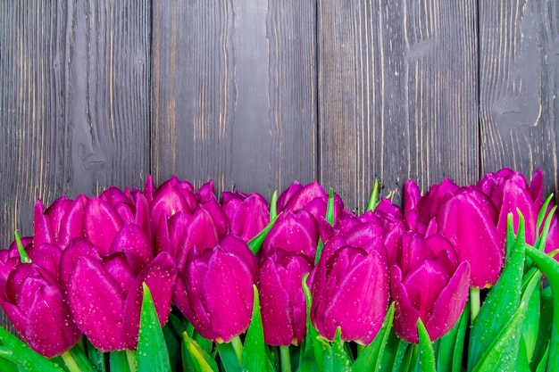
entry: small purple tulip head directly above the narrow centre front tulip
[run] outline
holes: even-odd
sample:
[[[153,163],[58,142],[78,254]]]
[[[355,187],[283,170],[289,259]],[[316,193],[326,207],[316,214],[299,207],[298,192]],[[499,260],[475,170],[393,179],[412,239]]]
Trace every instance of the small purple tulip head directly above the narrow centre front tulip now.
[[[283,250],[304,253],[314,260],[318,239],[318,223],[311,213],[305,210],[284,212],[264,238],[263,256]]]

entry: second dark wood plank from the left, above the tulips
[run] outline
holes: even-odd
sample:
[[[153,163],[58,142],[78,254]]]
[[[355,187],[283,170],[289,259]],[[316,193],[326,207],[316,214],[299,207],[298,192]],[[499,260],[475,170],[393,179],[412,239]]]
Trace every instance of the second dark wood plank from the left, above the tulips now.
[[[269,198],[316,178],[313,1],[154,2],[153,172]]]

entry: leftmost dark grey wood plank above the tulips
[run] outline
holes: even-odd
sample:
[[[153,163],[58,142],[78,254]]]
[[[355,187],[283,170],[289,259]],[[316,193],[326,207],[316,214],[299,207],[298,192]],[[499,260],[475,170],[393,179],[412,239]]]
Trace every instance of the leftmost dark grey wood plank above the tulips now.
[[[143,186],[150,14],[146,0],[0,2],[0,247],[32,234],[38,197]]]

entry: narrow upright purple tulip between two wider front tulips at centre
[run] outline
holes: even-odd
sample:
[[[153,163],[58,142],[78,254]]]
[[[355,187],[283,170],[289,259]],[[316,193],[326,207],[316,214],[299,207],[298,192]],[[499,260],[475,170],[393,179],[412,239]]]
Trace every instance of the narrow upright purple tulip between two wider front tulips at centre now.
[[[311,261],[297,253],[273,254],[261,263],[257,285],[265,343],[298,345],[305,338],[306,304],[301,281],[311,269]]]

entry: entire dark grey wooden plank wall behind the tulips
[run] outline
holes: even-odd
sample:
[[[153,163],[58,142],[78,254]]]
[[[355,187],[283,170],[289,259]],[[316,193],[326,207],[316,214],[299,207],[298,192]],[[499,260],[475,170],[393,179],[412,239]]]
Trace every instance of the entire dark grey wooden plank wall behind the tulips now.
[[[556,0],[0,0],[0,89],[0,247],[148,174],[358,212],[375,178],[559,189]]]

